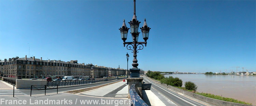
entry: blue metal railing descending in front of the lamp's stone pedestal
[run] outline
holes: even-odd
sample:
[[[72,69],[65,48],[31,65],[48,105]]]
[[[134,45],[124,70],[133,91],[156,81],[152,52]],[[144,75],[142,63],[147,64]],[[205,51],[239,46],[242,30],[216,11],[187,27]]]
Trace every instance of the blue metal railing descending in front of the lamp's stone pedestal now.
[[[130,96],[132,104],[131,106],[148,106],[139,96],[139,94],[135,90],[135,84],[131,84],[130,89]]]

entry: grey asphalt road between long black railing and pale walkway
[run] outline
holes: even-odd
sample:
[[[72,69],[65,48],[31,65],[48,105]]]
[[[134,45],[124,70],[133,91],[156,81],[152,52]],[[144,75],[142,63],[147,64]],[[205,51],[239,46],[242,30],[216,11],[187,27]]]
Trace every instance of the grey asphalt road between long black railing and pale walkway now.
[[[119,80],[113,80],[110,82],[104,82],[104,83],[98,83],[98,84],[91,84],[91,85],[82,85],[82,86],[70,86],[70,87],[66,87],[66,88],[58,88],[58,92],[63,92],[63,91],[69,91],[69,90],[75,90],[75,89],[82,89],[82,88],[88,88],[88,87],[94,87],[94,86],[99,86],[99,85],[103,85],[103,84],[108,84],[111,82],[115,82],[115,81],[122,81],[124,79],[119,79]],[[30,89],[17,89],[18,91],[21,91],[27,95],[30,95]],[[57,89],[46,89],[46,93],[57,93]],[[42,90],[32,90],[32,95],[33,94],[44,94],[44,89]]]

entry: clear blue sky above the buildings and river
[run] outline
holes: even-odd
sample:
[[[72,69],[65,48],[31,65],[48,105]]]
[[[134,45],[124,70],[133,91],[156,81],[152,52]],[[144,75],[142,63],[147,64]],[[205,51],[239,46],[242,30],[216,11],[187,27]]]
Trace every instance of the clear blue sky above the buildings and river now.
[[[136,1],[151,27],[139,68],[156,71],[256,71],[255,1]],[[127,68],[120,28],[133,1],[0,1],[0,59],[12,57]],[[129,30],[130,31],[130,30]],[[140,31],[139,31],[140,32]],[[128,34],[126,41],[131,41]],[[139,41],[144,41],[142,35]],[[242,68],[238,68],[241,70]]]

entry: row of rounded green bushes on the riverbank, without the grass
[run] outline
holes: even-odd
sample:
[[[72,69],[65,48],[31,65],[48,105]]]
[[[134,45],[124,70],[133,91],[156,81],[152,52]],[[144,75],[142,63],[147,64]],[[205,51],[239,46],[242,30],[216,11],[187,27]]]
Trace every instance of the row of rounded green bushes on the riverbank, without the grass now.
[[[147,73],[146,73],[146,76],[150,77],[150,78],[153,78],[155,80],[158,80],[161,83],[171,85],[171,86],[174,86],[174,87],[178,87],[178,88],[181,88],[181,89],[194,90],[194,91],[197,90],[197,86],[193,82],[190,82],[190,81],[185,82],[185,88],[184,88],[184,87],[181,87],[182,86],[182,80],[181,79],[179,79],[177,77],[173,78],[172,76],[165,77],[159,71],[154,71],[153,72],[153,71],[148,70]]]

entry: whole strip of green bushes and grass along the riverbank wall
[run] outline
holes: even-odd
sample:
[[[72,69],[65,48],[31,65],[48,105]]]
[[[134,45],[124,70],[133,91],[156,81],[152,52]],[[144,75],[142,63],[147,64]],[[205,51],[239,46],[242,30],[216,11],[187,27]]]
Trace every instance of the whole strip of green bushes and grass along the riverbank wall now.
[[[193,82],[190,82],[190,81],[185,82],[185,87],[181,87],[182,86],[182,80],[181,79],[179,79],[177,77],[173,78],[172,76],[167,78],[167,77],[161,75],[160,72],[157,72],[157,71],[153,72],[153,71],[148,70],[147,73],[146,73],[146,76],[150,77],[152,79],[158,80],[161,83],[171,85],[171,86],[174,86],[176,88],[180,88],[180,89],[183,89],[183,90],[186,90],[186,91],[190,91],[190,92],[199,94],[199,95],[204,96],[204,97],[217,99],[217,100],[222,100],[222,101],[227,101],[227,102],[251,105],[251,103],[246,103],[244,101],[239,101],[239,100],[236,100],[236,99],[233,99],[233,98],[226,98],[226,97],[214,95],[214,94],[211,94],[211,93],[196,92],[196,90],[197,90],[196,84],[194,84]]]

